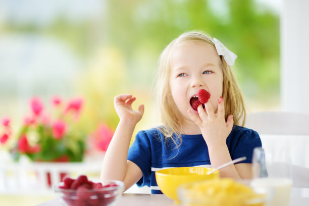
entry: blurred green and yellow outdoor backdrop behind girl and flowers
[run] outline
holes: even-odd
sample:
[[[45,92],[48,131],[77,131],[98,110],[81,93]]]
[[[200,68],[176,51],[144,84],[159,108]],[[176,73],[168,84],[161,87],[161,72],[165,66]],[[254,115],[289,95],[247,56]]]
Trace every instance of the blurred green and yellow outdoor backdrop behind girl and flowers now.
[[[238,56],[234,69],[248,112],[279,110],[280,2],[2,0],[0,118],[10,117],[18,129],[33,96],[46,105],[54,96],[78,96],[82,132],[93,134],[101,125],[115,130],[114,96],[132,93],[133,108],[145,105],[136,131],[155,126],[159,55],[189,30],[209,33]]]

